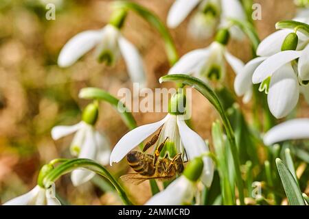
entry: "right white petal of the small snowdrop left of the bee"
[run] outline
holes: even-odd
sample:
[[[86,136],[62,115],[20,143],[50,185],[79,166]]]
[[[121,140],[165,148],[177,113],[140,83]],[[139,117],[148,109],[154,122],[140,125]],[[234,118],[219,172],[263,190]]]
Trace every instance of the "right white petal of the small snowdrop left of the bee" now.
[[[107,137],[95,131],[95,142],[97,144],[97,160],[102,165],[107,165],[109,162],[109,157],[111,157],[111,143],[108,141]]]

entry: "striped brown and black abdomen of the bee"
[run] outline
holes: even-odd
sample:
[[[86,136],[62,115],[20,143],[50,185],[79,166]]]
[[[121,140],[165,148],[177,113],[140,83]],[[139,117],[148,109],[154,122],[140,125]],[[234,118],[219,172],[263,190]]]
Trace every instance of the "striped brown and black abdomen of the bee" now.
[[[139,151],[130,151],[126,159],[131,168],[140,175],[152,176],[155,174],[153,156],[141,153]]]

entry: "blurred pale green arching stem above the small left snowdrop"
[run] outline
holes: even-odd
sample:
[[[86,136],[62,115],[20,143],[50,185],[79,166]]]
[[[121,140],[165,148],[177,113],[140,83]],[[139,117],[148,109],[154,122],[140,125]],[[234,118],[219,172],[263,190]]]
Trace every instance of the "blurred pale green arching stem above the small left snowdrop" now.
[[[137,127],[135,118],[126,108],[124,103],[119,101],[119,99],[115,98],[115,96],[112,96],[110,93],[99,88],[82,88],[78,96],[82,99],[95,99],[110,103],[122,116],[122,120],[124,120],[124,123],[129,129],[135,129]]]

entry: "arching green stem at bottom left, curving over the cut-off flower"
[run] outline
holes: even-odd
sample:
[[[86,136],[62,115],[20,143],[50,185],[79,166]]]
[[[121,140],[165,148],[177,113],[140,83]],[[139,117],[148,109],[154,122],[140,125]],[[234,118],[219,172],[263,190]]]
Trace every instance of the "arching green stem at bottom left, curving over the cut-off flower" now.
[[[104,168],[104,166],[95,163],[91,159],[71,159],[67,162],[60,164],[44,177],[43,185],[45,186],[45,188],[48,188],[50,183],[56,181],[62,175],[65,175],[68,172],[75,170],[76,168],[86,168],[87,170],[91,170],[98,175],[105,177],[113,184],[119,194],[119,197],[122,198],[124,205],[133,205],[122,186],[116,181],[116,179],[111,175],[111,173],[109,173],[108,170]]]

